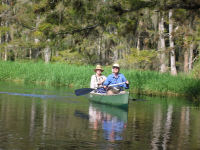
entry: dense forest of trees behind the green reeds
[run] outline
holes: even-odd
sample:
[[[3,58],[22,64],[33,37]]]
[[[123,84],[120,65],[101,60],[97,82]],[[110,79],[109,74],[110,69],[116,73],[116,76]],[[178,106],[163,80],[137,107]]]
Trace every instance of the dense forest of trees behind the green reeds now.
[[[1,0],[0,58],[200,77],[199,0]]]

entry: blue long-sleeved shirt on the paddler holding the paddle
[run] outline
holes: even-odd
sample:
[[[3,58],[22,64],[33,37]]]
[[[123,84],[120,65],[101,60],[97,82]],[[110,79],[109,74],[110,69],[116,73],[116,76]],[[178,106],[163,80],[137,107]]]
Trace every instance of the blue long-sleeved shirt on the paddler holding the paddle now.
[[[126,78],[123,74],[119,73],[117,75],[117,77],[115,77],[114,74],[110,74],[106,81],[103,83],[103,85],[105,86],[108,86],[108,85],[111,85],[111,84],[118,84],[118,83],[122,83],[122,82],[126,82]],[[121,84],[121,85],[116,85],[115,87],[124,87],[125,89],[128,89],[129,87],[124,83],[124,84]]]

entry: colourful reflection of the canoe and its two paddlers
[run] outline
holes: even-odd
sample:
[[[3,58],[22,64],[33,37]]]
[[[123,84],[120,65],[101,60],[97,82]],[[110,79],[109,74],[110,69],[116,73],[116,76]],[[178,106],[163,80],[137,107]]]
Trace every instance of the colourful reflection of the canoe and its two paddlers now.
[[[93,139],[96,139],[96,131],[103,129],[103,136],[111,142],[123,140],[122,133],[127,126],[128,110],[111,107],[102,104],[90,103],[89,123],[94,130]]]

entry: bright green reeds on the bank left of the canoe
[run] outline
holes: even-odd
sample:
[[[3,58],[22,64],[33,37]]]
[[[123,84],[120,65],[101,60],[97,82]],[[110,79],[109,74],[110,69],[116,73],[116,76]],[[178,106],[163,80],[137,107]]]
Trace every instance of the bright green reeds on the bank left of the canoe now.
[[[45,64],[42,62],[0,62],[0,80],[15,80],[51,85],[88,86],[90,66]]]

